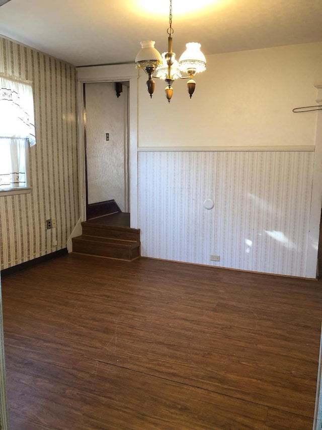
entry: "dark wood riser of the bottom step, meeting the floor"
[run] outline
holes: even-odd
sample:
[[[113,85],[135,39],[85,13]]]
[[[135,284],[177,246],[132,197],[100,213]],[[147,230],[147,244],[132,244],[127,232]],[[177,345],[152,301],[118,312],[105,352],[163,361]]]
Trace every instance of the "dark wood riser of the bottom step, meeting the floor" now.
[[[140,256],[140,248],[134,249],[123,249],[114,248],[106,244],[100,245],[99,243],[87,243],[87,242],[73,242],[73,252],[81,254],[90,254],[100,257],[116,258],[121,260],[134,260]]]

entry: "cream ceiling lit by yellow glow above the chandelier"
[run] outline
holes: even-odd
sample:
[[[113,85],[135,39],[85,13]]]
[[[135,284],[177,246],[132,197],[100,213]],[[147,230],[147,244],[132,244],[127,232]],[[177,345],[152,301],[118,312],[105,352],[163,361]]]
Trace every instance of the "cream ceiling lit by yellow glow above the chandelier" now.
[[[167,50],[169,4],[11,0],[0,7],[0,34],[74,66],[132,63],[141,40]],[[322,0],[173,0],[177,57],[192,41],[205,55],[319,42],[321,23]]]

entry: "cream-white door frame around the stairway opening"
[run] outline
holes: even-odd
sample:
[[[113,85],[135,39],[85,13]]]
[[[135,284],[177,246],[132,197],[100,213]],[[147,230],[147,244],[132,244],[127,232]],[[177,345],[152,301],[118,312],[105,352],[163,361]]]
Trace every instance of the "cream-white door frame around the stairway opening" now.
[[[138,228],[138,174],[137,174],[137,100],[138,71],[134,64],[113,66],[77,67],[77,109],[78,109],[78,175],[81,221],[86,220],[86,179],[85,179],[85,115],[83,85],[95,82],[129,81],[129,208],[131,227]]]

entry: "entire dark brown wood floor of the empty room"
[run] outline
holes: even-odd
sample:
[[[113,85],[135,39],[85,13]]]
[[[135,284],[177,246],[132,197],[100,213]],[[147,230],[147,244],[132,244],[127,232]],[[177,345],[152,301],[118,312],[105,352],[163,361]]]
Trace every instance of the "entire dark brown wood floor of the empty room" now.
[[[11,430],[311,430],[322,281],[68,255],[3,280]]]

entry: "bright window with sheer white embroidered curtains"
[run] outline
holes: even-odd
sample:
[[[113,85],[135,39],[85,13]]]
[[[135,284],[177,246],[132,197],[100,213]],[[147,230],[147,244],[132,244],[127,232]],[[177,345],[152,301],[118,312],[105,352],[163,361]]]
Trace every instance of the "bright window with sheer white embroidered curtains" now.
[[[31,83],[0,76],[0,194],[28,190],[28,145],[36,143]]]

